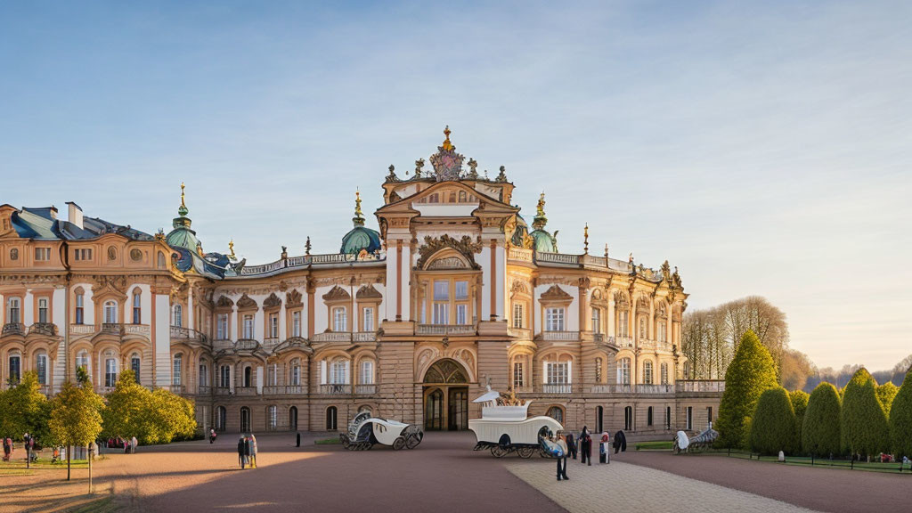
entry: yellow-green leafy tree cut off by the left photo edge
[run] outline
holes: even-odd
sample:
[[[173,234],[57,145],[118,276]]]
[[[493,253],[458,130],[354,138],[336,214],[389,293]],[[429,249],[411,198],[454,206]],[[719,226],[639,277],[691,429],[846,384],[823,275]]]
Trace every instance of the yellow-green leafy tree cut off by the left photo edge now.
[[[46,443],[49,416],[50,404],[36,372],[26,372],[16,386],[0,393],[0,434],[19,439],[28,433]]]

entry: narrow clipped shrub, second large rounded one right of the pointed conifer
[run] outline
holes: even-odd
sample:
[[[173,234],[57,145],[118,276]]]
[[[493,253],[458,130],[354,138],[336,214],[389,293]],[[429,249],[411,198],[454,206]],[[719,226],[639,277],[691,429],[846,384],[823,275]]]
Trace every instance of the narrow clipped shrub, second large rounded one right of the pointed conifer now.
[[[801,445],[809,455],[838,455],[842,452],[840,417],[842,400],[833,383],[822,382],[807,402],[801,429]]]

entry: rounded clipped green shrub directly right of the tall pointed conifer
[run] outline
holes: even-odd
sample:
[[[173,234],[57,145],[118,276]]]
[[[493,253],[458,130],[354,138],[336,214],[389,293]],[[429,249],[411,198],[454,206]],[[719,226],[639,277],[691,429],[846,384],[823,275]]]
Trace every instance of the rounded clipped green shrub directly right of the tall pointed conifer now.
[[[797,433],[789,393],[782,387],[765,390],[751,417],[751,451],[763,455],[779,451],[792,454],[797,447]]]

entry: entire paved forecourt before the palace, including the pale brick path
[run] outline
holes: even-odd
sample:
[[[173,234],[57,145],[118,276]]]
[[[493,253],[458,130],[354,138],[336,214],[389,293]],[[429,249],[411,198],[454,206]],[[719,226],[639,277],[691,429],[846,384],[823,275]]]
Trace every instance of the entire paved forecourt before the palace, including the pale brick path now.
[[[95,466],[96,496],[84,497],[86,470],[0,474],[0,512],[122,511],[901,511],[912,476],[779,466],[722,456],[634,453],[609,466],[472,452],[471,433],[432,433],[415,450],[340,445],[300,448],[293,434],[258,436],[258,468],[241,470],[237,439],[140,447]],[[87,503],[101,499],[102,503]],[[103,507],[103,508],[101,508]]]

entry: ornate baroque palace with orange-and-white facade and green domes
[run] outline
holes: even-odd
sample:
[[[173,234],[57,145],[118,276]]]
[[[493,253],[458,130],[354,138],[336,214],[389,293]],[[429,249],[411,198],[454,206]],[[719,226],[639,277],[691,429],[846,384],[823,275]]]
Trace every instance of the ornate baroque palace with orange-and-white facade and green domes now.
[[[706,426],[723,382],[689,380],[677,268],[560,253],[544,194],[531,226],[505,173],[450,141],[389,166],[377,229],[356,194],[338,251],[248,265],[202,249],[183,185],[149,235],[57,208],[0,206],[0,381],[48,394],[85,367],[192,398],[201,429],[333,431],[368,409],[466,429],[486,386],[570,428],[665,437]]]

